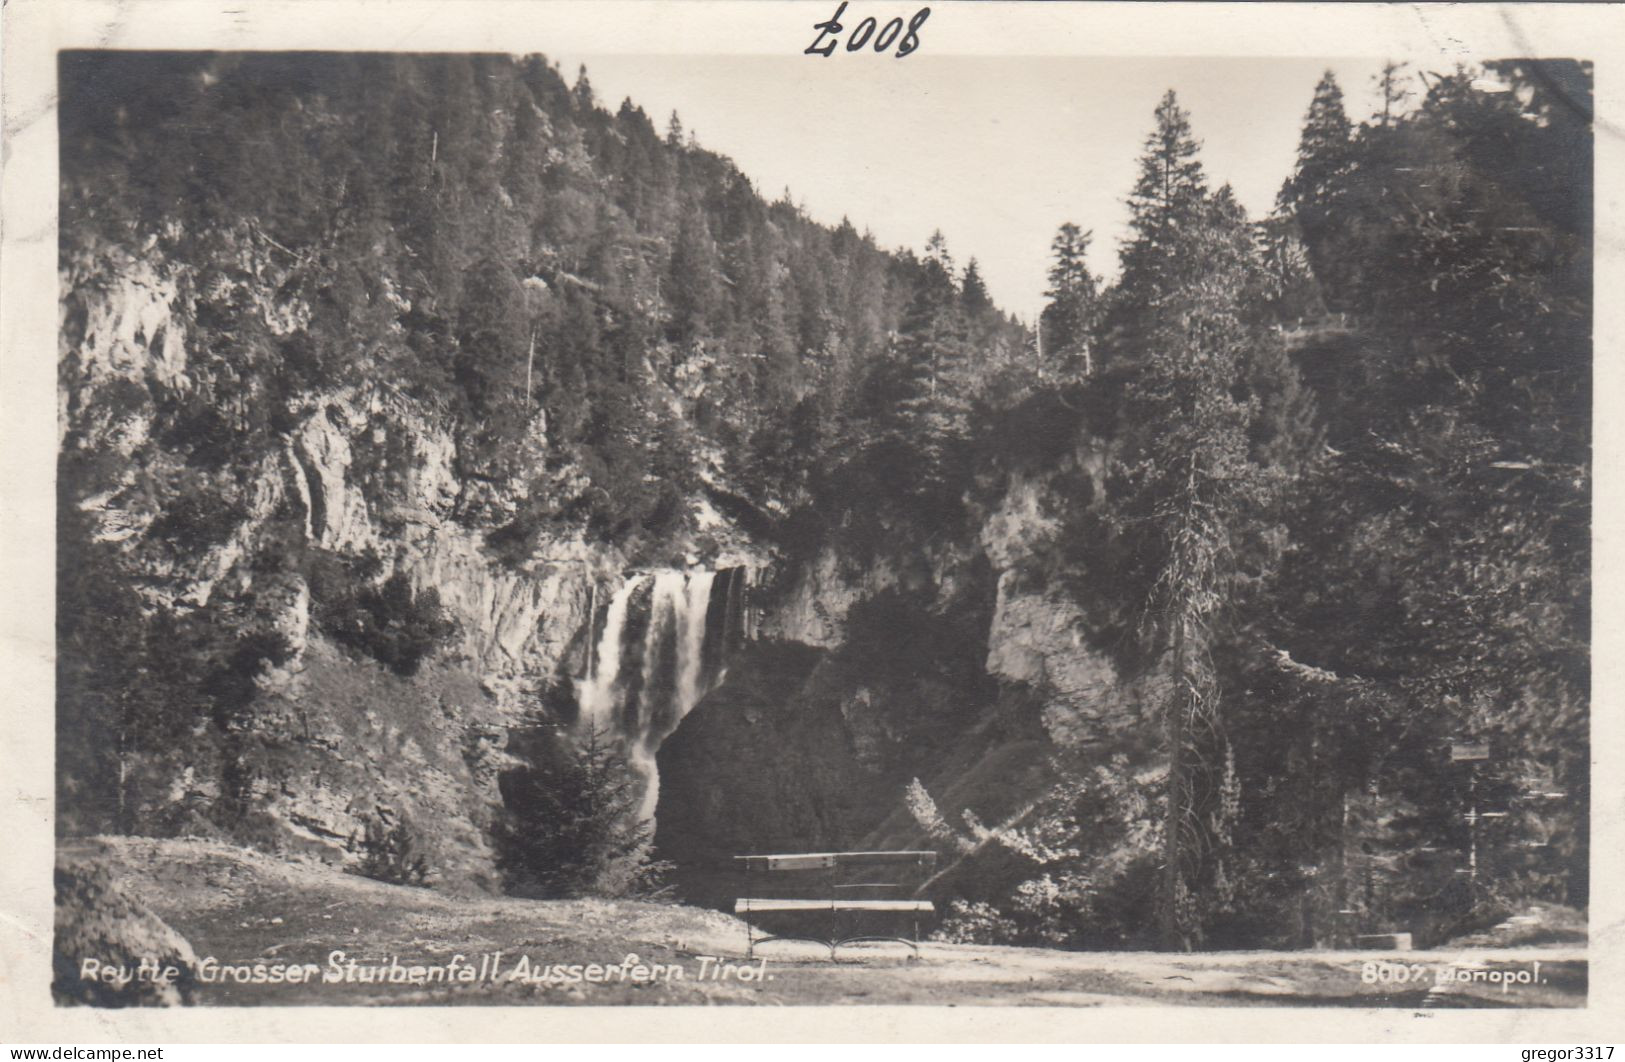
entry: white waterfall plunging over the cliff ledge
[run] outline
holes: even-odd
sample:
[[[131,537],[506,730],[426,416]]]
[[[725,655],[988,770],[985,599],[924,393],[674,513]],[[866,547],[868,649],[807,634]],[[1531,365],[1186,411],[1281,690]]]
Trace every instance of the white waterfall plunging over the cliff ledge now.
[[[722,663],[744,638],[741,572],[668,568],[630,575],[609,598],[596,651],[596,617],[588,615],[588,674],[577,684],[578,726],[608,727],[624,742],[627,760],[645,783],[644,818],[653,818],[660,797],[660,744],[722,680]],[[640,593],[645,586],[647,594]]]

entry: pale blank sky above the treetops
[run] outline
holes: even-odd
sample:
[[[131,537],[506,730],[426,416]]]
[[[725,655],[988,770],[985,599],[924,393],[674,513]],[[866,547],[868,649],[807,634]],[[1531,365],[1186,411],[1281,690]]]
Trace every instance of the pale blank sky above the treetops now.
[[[1063,221],[1094,229],[1090,266],[1115,274],[1124,198],[1172,88],[1191,112],[1214,187],[1261,216],[1292,169],[1315,83],[1337,75],[1349,117],[1375,110],[1381,58],[1056,58],[843,55],[567,55],[603,106],[630,96],[665,132],[676,109],[770,200],[788,185],[826,222],[852,218],[882,247],[920,250],[942,229],[975,257],[998,304],[1043,299]]]

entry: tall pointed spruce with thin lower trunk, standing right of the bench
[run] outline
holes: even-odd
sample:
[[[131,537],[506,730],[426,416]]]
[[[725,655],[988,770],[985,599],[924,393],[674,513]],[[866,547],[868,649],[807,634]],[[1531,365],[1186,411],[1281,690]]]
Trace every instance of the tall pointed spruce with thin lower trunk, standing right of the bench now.
[[[1162,706],[1167,784],[1164,945],[1202,939],[1204,908],[1228,903],[1225,807],[1235,784],[1212,650],[1237,572],[1238,525],[1264,492],[1251,461],[1256,401],[1245,386],[1254,330],[1245,300],[1259,263],[1228,188],[1206,193],[1190,120],[1168,93],[1157,107],[1129,203],[1120,339],[1136,430],[1123,474],[1124,533],[1150,529],[1152,585],[1142,633],[1168,672]]]

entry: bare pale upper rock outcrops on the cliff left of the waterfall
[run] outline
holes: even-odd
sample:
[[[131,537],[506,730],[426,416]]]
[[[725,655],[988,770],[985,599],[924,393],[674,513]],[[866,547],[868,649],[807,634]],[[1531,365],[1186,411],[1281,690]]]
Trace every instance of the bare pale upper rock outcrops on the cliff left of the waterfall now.
[[[273,331],[309,313],[266,294],[278,279],[262,263],[242,283],[242,296],[262,304]],[[102,539],[136,539],[150,528],[158,505],[138,489],[141,464],[171,474],[159,490],[179,487],[179,461],[148,437],[145,406],[219,385],[206,369],[197,373],[203,380],[188,373],[190,309],[182,289],[192,283],[184,268],[106,248],[65,270],[63,289],[72,292],[65,315],[78,326],[63,328],[60,432],[75,450],[132,461],[110,489],[76,500],[96,515]],[[128,398],[109,401],[109,390]],[[247,399],[223,393],[221,401]],[[624,563],[616,550],[574,537],[543,542],[518,567],[497,562],[484,544],[489,520],[481,526],[457,516],[476,505],[500,507],[502,487],[460,479],[450,425],[385,383],[297,395],[283,412],[291,427],[280,448],[234,469],[229,486],[206,484],[245,502],[226,541],[185,563],[138,559],[154,601],[202,606],[218,589],[255,588],[254,546],[268,521],[289,516],[306,546],[351,555],[372,550],[385,570],[437,588],[460,620],[460,654],[492,687],[512,692],[525,676],[552,672],[585,622],[590,588]],[[540,424],[535,430],[540,435]],[[276,622],[302,643],[309,591],[294,580],[273,594],[284,612]]]

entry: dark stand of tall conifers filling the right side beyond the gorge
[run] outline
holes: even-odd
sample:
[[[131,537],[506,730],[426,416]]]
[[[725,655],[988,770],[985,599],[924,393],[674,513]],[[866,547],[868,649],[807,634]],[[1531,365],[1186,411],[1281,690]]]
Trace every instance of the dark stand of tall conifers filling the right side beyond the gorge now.
[[[1056,576],[1168,671],[1168,766],[1138,789],[1098,750],[1063,766],[1006,844],[1046,872],[965,908],[970,935],[1121,940],[1154,913],[1183,947],[1310,943],[1584,904],[1588,80],[1508,62],[1381,88],[1355,123],[1321,81],[1251,226],[1170,93],[1120,281],[1051,302],[1113,453]],[[1467,742],[1488,758],[1456,762]],[[1090,856],[1102,809],[1139,891]]]

